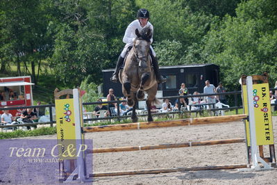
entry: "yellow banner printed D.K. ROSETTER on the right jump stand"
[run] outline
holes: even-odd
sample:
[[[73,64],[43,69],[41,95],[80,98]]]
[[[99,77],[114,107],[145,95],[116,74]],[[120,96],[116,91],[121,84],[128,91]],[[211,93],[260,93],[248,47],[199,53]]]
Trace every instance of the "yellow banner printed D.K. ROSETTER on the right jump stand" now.
[[[242,86],[244,113],[248,114],[247,90]],[[257,145],[273,145],[274,135],[271,118],[271,106],[269,99],[269,84],[253,84],[253,102],[255,113],[255,128]],[[249,122],[246,120],[247,144],[250,146]]]

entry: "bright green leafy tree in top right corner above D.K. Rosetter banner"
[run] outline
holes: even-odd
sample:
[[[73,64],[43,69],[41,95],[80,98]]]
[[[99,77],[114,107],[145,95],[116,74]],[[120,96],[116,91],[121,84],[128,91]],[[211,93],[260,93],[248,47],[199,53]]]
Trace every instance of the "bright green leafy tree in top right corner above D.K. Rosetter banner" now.
[[[239,88],[242,74],[269,72],[271,84],[276,75],[277,8],[274,0],[241,3],[237,17],[227,16],[210,31],[202,52],[203,61],[221,67],[221,78],[231,89]]]

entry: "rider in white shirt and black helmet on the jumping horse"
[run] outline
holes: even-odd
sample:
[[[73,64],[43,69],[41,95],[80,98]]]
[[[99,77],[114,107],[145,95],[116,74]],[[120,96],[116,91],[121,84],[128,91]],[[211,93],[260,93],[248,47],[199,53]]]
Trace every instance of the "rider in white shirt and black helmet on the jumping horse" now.
[[[117,66],[115,67],[115,72],[114,74],[112,74],[112,78],[110,79],[112,82],[118,81],[119,70],[121,65],[123,65],[124,63],[124,58],[127,54],[127,49],[128,47],[133,45],[133,41],[136,38],[135,29],[138,29],[138,31],[142,31],[144,27],[149,26],[149,28],[152,30],[152,33],[153,33],[153,25],[148,20],[149,20],[149,11],[142,8],[137,11],[137,19],[131,22],[131,24],[129,24],[129,26],[127,27],[123,38],[123,42],[126,43],[126,45],[117,60]],[[153,34],[151,38],[151,43],[152,42],[153,42]],[[150,54],[152,58],[153,69],[156,74],[156,80],[158,83],[164,83],[165,81],[167,81],[167,79],[160,76],[158,60],[156,58],[156,53],[153,50],[152,46],[150,46],[150,50],[151,50]]]

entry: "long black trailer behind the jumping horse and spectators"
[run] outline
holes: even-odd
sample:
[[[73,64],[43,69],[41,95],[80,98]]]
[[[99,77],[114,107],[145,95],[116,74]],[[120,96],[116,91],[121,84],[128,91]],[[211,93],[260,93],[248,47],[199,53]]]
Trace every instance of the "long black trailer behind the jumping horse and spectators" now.
[[[110,81],[114,69],[102,70],[102,72],[103,95],[106,97],[108,90],[112,88],[116,97],[122,97],[121,83]],[[159,86],[163,97],[178,95],[181,83],[185,83],[190,94],[195,91],[203,93],[206,80],[215,87],[219,83],[219,66],[215,64],[161,66],[160,73],[167,77],[167,82]]]

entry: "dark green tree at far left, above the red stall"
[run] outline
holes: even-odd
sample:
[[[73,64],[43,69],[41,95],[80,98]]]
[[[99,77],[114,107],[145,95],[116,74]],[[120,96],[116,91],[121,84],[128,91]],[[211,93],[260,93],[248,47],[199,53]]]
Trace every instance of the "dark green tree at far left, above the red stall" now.
[[[0,1],[1,12],[1,51],[6,57],[1,58],[3,65],[15,61],[17,74],[21,75],[21,63],[25,71],[31,74],[34,83],[37,83],[35,67],[39,71],[40,62],[47,56],[51,38],[47,36],[46,1]],[[28,70],[31,65],[31,71]]]

